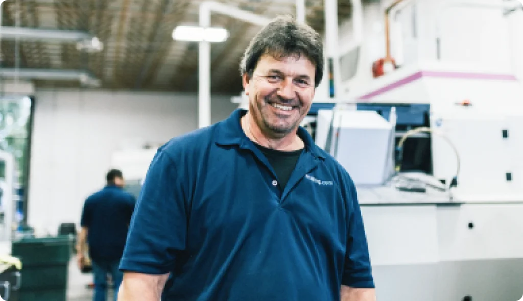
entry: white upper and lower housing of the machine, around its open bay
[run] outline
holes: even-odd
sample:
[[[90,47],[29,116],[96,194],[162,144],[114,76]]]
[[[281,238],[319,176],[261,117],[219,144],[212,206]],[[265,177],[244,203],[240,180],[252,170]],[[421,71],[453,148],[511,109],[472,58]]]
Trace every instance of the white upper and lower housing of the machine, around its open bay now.
[[[459,156],[451,194],[357,186],[379,300],[523,298],[521,99],[523,85],[512,75],[442,64],[403,68],[356,97],[363,103],[430,104],[435,179],[448,183],[458,164],[440,135]],[[328,118],[319,111],[320,145]],[[354,136],[340,138],[347,140],[338,144],[345,148],[360,143]]]

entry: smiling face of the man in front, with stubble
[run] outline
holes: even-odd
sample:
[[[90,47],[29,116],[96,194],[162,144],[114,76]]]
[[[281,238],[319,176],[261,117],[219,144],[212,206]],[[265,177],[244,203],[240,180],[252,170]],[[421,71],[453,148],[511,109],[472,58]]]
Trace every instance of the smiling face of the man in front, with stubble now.
[[[243,76],[249,112],[264,134],[283,137],[295,131],[311,108],[315,65],[305,56],[276,60],[260,57],[252,78]]]

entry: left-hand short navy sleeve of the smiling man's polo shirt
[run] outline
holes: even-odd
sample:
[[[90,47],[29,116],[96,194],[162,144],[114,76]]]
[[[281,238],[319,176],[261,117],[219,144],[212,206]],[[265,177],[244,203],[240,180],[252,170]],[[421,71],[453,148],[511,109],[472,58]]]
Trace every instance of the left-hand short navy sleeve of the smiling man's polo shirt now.
[[[134,208],[121,270],[144,274],[172,270],[176,254],[185,249],[187,233],[183,179],[173,160],[158,151]]]

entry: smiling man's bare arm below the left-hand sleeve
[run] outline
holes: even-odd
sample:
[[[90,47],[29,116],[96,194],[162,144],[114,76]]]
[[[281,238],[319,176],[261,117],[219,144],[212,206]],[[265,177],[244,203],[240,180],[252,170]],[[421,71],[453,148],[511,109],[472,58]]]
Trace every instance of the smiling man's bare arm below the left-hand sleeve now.
[[[169,274],[147,275],[125,272],[118,290],[118,301],[158,301],[168,276]]]

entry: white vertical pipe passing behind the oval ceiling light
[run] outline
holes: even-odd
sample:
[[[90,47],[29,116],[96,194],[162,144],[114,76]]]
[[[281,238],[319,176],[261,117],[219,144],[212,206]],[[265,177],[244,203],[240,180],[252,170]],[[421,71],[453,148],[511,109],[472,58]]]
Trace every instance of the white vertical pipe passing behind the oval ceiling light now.
[[[211,23],[208,5],[200,5],[200,27]],[[211,46],[207,41],[198,44],[198,128],[211,124]]]

